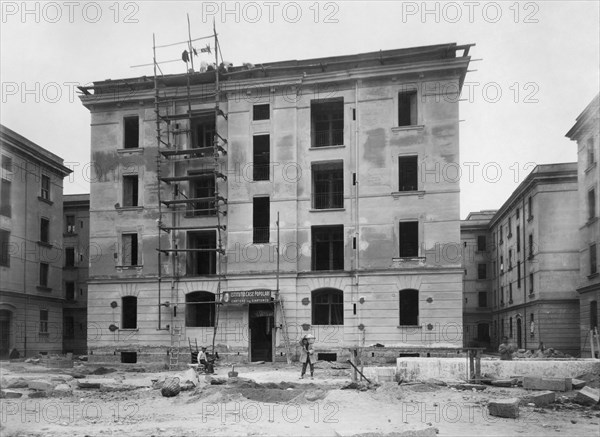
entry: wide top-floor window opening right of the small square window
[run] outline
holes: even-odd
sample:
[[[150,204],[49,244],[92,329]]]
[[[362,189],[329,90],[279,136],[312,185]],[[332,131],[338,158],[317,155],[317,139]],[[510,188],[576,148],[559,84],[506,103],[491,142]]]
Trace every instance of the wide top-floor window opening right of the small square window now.
[[[341,146],[344,144],[344,100],[312,101],[312,147]]]

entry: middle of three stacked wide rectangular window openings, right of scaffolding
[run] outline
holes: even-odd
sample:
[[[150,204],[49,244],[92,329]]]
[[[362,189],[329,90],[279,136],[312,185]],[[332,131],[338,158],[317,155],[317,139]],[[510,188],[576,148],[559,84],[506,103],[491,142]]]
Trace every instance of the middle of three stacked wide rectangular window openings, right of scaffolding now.
[[[344,207],[344,168],[342,162],[312,165],[312,207],[333,209]]]

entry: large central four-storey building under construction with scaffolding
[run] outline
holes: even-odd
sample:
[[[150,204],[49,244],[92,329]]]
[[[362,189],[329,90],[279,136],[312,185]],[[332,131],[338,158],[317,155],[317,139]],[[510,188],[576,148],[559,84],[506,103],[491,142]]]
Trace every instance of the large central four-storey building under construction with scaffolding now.
[[[252,361],[285,359],[308,332],[321,359],[377,343],[462,346],[448,175],[469,48],[82,87],[100,249],[90,359],[172,360],[215,333],[221,353]]]

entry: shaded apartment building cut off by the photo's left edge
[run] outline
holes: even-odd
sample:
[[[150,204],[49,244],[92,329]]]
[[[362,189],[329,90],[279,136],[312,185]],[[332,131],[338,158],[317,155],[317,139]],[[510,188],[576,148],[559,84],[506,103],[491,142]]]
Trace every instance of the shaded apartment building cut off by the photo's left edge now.
[[[0,125],[0,354],[63,351],[63,178],[58,156]]]

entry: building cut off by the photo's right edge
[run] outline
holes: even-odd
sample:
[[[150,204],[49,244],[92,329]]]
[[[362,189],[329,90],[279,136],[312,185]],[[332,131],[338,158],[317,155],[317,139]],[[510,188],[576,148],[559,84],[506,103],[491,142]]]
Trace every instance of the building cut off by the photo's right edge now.
[[[600,197],[600,116],[599,96],[596,95],[577,117],[567,137],[577,142],[577,180],[579,183],[579,229],[577,241],[579,252],[579,295],[581,354],[591,357],[591,337],[598,330],[598,300],[600,300],[600,274],[598,269],[598,244],[600,244],[600,221],[598,205]],[[597,346],[595,358],[599,357]]]

